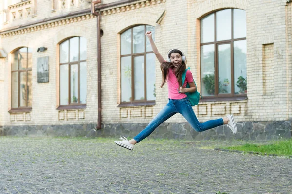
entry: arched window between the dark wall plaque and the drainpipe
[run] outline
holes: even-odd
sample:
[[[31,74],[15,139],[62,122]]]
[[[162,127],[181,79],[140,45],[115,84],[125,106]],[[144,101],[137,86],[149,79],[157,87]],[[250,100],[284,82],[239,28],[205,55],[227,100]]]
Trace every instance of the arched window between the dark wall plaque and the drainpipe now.
[[[86,39],[73,37],[60,44],[60,106],[86,104]]]

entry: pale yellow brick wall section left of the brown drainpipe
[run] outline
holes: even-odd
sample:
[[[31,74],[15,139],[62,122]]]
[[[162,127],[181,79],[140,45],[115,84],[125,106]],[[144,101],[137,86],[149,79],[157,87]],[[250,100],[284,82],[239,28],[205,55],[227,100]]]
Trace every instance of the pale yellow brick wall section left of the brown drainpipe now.
[[[86,29],[86,30],[84,30]],[[87,40],[87,108],[85,110],[58,111],[57,108],[57,44],[72,36],[82,36]],[[3,38],[3,48],[8,53],[19,47],[29,47],[33,50],[32,66],[32,111],[30,113],[9,114],[11,71],[6,58],[4,76],[3,105],[5,125],[44,125],[44,124],[84,124],[97,123],[97,47],[96,18],[93,16],[75,23],[51,27],[35,32]],[[38,47],[47,47],[43,53],[38,53]],[[37,83],[37,58],[49,56],[49,82]],[[72,116],[73,114],[73,116]],[[62,119],[64,117],[64,120]]]

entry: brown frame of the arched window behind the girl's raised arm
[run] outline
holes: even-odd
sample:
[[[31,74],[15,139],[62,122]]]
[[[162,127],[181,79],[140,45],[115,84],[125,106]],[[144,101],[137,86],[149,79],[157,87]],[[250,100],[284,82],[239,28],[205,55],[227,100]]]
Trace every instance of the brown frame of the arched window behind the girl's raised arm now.
[[[127,30],[131,29],[131,53],[130,54],[121,54],[121,49],[120,49],[120,67],[121,67],[121,59],[122,57],[131,57],[131,101],[128,102],[122,102],[122,91],[120,92],[120,104],[118,107],[126,107],[126,106],[144,106],[144,105],[155,105],[155,100],[147,100],[147,64],[146,64],[146,55],[154,53],[153,51],[146,51],[147,45],[146,45],[146,36],[144,35],[144,52],[143,53],[133,53],[133,29],[137,26],[144,26],[144,34],[146,33],[146,26],[151,26],[147,24],[141,24],[141,25],[135,25],[131,26],[130,28],[125,29],[123,32],[120,33],[120,40],[121,40],[121,35],[126,32]],[[154,26],[152,26],[154,27]],[[120,47],[121,47],[121,41],[120,41]],[[144,99],[143,100],[133,100],[135,99],[135,83],[134,83],[134,58],[137,56],[144,56]],[[122,70],[120,71],[120,76],[121,76]],[[122,77],[122,76],[121,76]],[[120,89],[122,88],[122,82],[120,81]]]

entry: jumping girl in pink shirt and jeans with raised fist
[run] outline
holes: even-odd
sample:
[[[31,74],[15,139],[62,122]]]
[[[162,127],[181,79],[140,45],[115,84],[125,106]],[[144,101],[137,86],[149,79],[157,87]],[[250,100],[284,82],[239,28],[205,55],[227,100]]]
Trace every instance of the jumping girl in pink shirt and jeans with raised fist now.
[[[161,123],[175,115],[180,113],[187,120],[188,123],[197,132],[206,131],[214,127],[227,124],[233,134],[236,134],[237,127],[234,122],[233,116],[228,115],[224,118],[215,120],[209,120],[204,123],[200,123],[194,113],[194,110],[190,104],[190,101],[185,94],[186,92],[195,92],[197,90],[193,80],[193,75],[190,70],[186,71],[185,81],[182,83],[182,74],[186,69],[186,58],[183,52],[179,49],[172,49],[168,52],[167,61],[164,60],[163,56],[159,53],[153,39],[152,32],[147,31],[145,33],[149,38],[152,50],[156,55],[158,61],[161,63],[162,71],[162,84],[161,88],[167,81],[168,86],[168,103],[166,106],[155,116],[154,119],[148,124],[148,126],[142,130],[137,136],[131,140],[120,137],[122,141],[114,141],[117,145],[133,150],[134,145],[139,143],[146,137],[148,137]],[[189,84],[190,88],[185,88],[186,84]]]

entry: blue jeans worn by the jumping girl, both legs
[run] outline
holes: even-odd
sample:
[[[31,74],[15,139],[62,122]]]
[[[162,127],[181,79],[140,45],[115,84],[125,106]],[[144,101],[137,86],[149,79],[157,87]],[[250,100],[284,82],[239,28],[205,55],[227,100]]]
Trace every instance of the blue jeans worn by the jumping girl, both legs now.
[[[161,123],[176,113],[182,114],[187,122],[190,123],[190,125],[197,132],[206,131],[208,129],[223,125],[222,118],[200,123],[187,97],[179,100],[169,99],[167,105],[156,115],[154,119],[152,119],[152,121],[145,129],[143,129],[143,131],[134,137],[134,140],[137,142],[142,141],[148,137]]]

